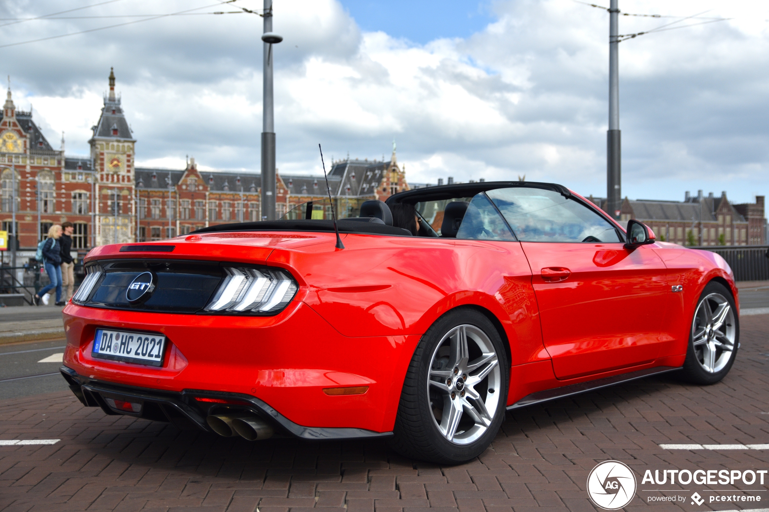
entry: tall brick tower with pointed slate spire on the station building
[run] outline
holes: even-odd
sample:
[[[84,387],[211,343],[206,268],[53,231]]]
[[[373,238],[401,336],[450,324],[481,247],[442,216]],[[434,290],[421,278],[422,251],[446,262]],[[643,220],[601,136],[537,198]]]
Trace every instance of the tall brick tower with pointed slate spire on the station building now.
[[[115,72],[109,72],[109,94],[98,123],[92,127],[91,157],[95,168],[96,245],[135,240],[134,163],[136,140],[115,97]]]

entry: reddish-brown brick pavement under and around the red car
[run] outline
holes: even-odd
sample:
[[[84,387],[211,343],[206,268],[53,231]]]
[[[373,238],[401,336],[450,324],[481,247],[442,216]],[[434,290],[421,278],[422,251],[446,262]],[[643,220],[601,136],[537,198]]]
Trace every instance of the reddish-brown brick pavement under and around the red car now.
[[[248,510],[261,512],[510,512],[596,510],[584,491],[598,461],[638,474],[664,469],[769,469],[769,451],[666,451],[660,443],[769,443],[769,315],[745,317],[742,349],[724,382],[709,387],[651,378],[509,414],[493,446],[456,467],[408,461],[384,442],[249,443],[105,416],[65,393],[0,402],[0,438],[60,438],[52,446],[0,447],[0,509]],[[626,510],[767,507],[765,485],[685,486],[644,492]],[[649,504],[650,496],[707,498],[760,489],[761,504]],[[724,493],[721,493],[724,494]],[[728,493],[734,494],[734,493]],[[737,494],[744,494],[741,491]],[[716,506],[719,505],[719,506]],[[319,511],[320,512],[320,511]]]

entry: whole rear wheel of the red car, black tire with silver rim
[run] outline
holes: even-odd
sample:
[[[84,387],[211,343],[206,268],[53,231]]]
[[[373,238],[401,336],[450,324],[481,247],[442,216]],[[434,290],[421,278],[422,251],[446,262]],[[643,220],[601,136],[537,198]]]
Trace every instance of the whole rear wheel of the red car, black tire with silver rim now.
[[[449,338],[452,332],[454,335]],[[453,354],[446,356],[444,352],[454,350],[454,340],[460,336],[458,332],[464,332],[468,340],[464,344],[468,347],[468,357],[462,359],[468,362],[460,365],[467,369],[459,373],[455,371],[459,368],[455,365],[458,358],[454,358]],[[489,344],[496,355],[495,366],[489,355],[491,352],[484,352],[483,349],[486,347],[488,351]],[[434,356],[437,359],[434,360]],[[473,365],[478,365],[478,368],[473,368]],[[453,384],[447,385],[446,390],[435,388],[444,385],[436,373],[449,374],[448,379]],[[491,444],[504,421],[509,374],[510,362],[504,343],[485,315],[476,309],[458,308],[441,316],[424,333],[411,358],[401,391],[391,447],[406,457],[438,464],[460,464],[478,457]],[[461,379],[463,376],[464,380]],[[433,384],[428,384],[428,380]],[[458,387],[461,385],[464,389]],[[463,391],[458,391],[460,389]],[[439,398],[439,395],[444,398]],[[482,403],[478,403],[479,400]],[[494,414],[490,415],[491,410],[486,405],[492,404]],[[451,435],[453,441],[444,436],[438,424],[443,420],[446,407],[450,413],[445,417],[445,423],[451,424],[452,412],[459,417],[458,421],[454,421],[453,431],[451,426],[446,427],[446,435]],[[461,414],[456,413],[459,409],[463,410]],[[471,422],[474,424],[468,426]],[[465,438],[460,439],[462,436]]]

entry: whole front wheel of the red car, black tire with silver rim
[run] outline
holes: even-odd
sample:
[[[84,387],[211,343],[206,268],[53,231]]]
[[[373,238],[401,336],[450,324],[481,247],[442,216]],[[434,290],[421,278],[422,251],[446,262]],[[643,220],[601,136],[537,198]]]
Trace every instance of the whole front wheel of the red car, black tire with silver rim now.
[[[703,302],[707,299],[708,307],[711,310],[714,309],[714,305],[717,305],[721,299],[725,299],[728,306],[731,308],[731,315],[727,313],[725,315],[722,326],[719,329],[708,330],[707,322],[704,322],[706,318],[702,315],[704,309]],[[720,344],[721,348],[716,348],[714,351],[714,364],[703,362],[704,358],[710,354],[710,345],[705,343],[698,343],[695,346],[695,338],[697,342],[701,342],[701,336],[697,336],[700,329],[705,330],[704,335],[707,339],[714,339],[715,344]],[[709,335],[711,332],[712,335]],[[724,350],[728,344],[724,341],[731,341],[731,351]],[[703,346],[706,345],[706,346]],[[715,384],[720,382],[724,378],[731,366],[734,364],[734,359],[737,358],[737,350],[740,347],[740,316],[737,314],[737,308],[734,305],[734,297],[731,296],[731,292],[726,286],[720,282],[711,281],[707,283],[704,290],[697,299],[697,306],[694,308],[694,317],[691,322],[691,329],[689,331],[689,346],[686,352],[686,360],[684,361],[684,367],[681,369],[679,377],[693,384]],[[704,353],[707,352],[707,353]],[[723,357],[723,358],[722,358]],[[717,364],[716,364],[717,363]],[[711,371],[711,368],[715,371]]]

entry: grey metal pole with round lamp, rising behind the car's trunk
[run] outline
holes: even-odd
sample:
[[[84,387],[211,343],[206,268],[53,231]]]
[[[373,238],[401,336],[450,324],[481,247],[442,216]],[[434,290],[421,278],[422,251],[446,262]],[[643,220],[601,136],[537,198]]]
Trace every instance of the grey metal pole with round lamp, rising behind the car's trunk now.
[[[261,220],[275,220],[275,115],[272,94],[272,45],[283,38],[272,31],[272,0],[265,0],[264,72],[261,130]]]

